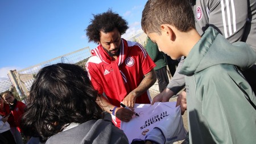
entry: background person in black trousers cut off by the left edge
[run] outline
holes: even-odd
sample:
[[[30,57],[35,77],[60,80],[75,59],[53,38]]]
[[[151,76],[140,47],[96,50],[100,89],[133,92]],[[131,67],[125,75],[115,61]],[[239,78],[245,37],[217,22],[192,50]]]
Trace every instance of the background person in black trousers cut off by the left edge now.
[[[4,100],[2,98],[2,95],[0,95],[0,110],[3,111],[5,107],[4,104]],[[9,143],[9,144],[13,144],[16,143],[15,139],[13,137],[13,134],[10,131],[10,125],[7,122],[8,118],[9,118],[9,114],[8,115],[2,115],[3,113],[0,113],[0,142],[5,144],[5,143]]]

